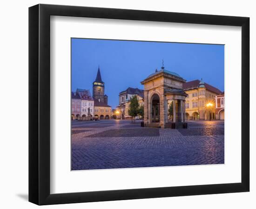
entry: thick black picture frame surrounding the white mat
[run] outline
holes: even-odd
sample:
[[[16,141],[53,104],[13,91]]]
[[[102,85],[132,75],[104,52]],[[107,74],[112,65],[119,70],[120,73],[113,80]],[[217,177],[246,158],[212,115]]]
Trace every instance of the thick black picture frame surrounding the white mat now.
[[[241,183],[50,194],[50,16],[242,26]],[[29,202],[38,205],[249,191],[249,18],[39,4],[29,8]]]

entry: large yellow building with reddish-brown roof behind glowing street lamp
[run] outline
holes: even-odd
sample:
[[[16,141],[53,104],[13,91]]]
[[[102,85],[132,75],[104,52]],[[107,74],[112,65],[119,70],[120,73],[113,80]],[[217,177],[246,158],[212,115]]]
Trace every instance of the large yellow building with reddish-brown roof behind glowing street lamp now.
[[[222,91],[202,80],[184,83],[183,90],[189,95],[185,102],[186,120],[216,119],[215,96]]]

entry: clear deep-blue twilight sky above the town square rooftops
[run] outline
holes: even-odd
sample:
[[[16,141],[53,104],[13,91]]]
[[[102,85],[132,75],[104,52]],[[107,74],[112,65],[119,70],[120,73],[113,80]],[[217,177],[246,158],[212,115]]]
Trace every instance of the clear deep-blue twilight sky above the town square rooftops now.
[[[204,82],[224,91],[224,45],[163,43],[102,39],[71,39],[72,91],[89,89],[92,94],[100,65],[105,94],[113,109],[120,91],[128,87],[143,89],[141,81],[155,69],[161,70],[162,59],[168,71],[187,81]]]

